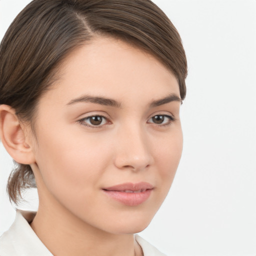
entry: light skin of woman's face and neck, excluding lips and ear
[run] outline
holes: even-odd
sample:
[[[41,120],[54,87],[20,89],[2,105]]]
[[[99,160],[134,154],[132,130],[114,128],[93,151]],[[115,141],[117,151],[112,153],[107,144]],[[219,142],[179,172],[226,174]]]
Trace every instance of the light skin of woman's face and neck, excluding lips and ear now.
[[[107,37],[72,51],[59,74],[38,102],[35,136],[22,129],[39,195],[31,227],[54,255],[142,255],[133,233],[167,195],[182,151],[180,101],[151,103],[179,97],[178,82],[150,54]],[[118,104],[74,100],[84,95]],[[104,117],[93,127],[96,115]],[[102,190],[140,181],[153,190],[137,206]]]

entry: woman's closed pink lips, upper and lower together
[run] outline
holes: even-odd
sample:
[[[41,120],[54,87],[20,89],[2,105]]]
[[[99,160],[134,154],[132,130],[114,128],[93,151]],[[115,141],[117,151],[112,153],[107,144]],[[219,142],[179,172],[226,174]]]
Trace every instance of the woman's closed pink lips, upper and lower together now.
[[[148,199],[153,190],[153,185],[147,182],[123,183],[103,188],[110,198],[128,205],[136,206]]]

